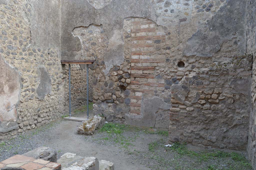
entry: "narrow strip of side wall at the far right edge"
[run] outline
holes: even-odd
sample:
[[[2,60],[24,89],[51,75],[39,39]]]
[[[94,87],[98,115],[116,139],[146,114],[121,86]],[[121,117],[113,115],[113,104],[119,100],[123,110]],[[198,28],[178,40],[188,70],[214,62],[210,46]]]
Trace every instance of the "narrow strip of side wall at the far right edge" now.
[[[250,121],[249,121],[249,137],[248,137],[248,145],[247,145],[247,152],[249,159],[252,162],[252,167],[256,169],[255,163],[255,153],[256,153],[256,126],[255,126],[255,117],[256,117],[256,105],[255,105],[255,56],[256,56],[256,2],[255,1],[248,1],[247,2],[247,53],[253,55],[253,65],[252,65],[252,88],[251,88],[251,98],[252,98],[252,108],[250,113]]]

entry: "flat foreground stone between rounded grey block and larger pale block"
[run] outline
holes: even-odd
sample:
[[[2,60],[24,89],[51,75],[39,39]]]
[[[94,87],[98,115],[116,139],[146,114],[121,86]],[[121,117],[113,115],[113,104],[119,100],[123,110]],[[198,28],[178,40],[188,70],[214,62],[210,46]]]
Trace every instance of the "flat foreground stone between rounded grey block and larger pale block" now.
[[[61,164],[61,167],[64,169],[70,167],[71,165],[80,161],[81,159],[83,159],[82,156],[78,156],[77,154],[67,152],[57,160],[57,163]],[[75,167],[73,167],[73,169],[75,169]]]

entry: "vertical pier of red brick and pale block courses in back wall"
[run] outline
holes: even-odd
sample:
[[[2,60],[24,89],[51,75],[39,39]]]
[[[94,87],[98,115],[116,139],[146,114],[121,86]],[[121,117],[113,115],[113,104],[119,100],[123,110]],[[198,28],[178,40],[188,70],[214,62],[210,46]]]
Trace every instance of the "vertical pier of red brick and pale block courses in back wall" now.
[[[142,96],[152,96],[157,88],[164,87],[163,83],[145,79],[155,78],[155,66],[151,66],[152,63],[165,62],[161,56],[156,54],[156,47],[158,47],[159,42],[165,42],[165,36],[157,35],[156,25],[147,19],[132,22],[131,33],[131,41],[133,41],[131,44],[131,77],[133,81],[131,81],[130,99],[132,101],[130,103],[130,112],[131,114],[140,115]],[[136,101],[137,103],[135,103]]]

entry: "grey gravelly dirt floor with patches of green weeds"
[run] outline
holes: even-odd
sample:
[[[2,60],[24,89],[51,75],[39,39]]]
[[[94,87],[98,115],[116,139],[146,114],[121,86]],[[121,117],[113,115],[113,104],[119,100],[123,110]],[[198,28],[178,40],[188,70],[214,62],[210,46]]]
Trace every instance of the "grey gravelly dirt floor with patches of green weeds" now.
[[[74,110],[77,117],[83,109]],[[241,152],[191,147],[175,143],[165,147],[167,131],[106,123],[92,136],[78,135],[81,122],[58,120],[8,141],[0,142],[0,161],[39,146],[66,153],[94,156],[113,162],[115,170],[250,170]]]

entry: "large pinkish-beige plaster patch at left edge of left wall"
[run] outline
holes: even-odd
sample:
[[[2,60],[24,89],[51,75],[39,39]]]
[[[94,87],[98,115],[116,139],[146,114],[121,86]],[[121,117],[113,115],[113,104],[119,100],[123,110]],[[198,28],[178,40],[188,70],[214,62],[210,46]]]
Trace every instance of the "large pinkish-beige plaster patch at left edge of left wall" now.
[[[18,127],[17,107],[21,91],[19,73],[0,56],[0,133]]]

